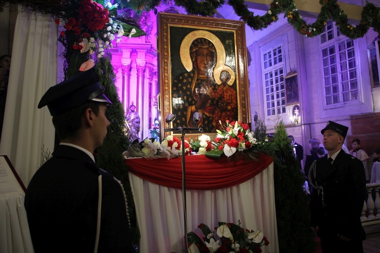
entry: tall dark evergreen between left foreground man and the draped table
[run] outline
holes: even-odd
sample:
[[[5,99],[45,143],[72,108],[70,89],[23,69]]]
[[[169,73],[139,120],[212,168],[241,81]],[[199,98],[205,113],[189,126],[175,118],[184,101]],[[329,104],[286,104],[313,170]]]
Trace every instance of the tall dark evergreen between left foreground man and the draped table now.
[[[99,77],[100,85],[105,89],[105,95],[112,102],[106,111],[110,122],[107,136],[103,145],[95,150],[96,163],[123,184],[128,201],[133,241],[138,244],[140,232],[136,226],[135,204],[128,179],[128,167],[122,158],[122,153],[128,147],[128,139],[124,134],[124,109],[115,86],[115,72],[108,57],[100,58],[94,69]]]

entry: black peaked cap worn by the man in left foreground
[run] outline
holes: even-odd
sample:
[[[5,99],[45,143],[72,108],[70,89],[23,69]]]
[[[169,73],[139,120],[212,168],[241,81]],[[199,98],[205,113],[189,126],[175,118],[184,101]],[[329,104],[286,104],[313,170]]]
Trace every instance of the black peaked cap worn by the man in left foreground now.
[[[84,71],[58,83],[41,98],[38,108],[48,106],[52,116],[59,115],[88,101],[111,104],[103,94],[99,79],[93,69]]]

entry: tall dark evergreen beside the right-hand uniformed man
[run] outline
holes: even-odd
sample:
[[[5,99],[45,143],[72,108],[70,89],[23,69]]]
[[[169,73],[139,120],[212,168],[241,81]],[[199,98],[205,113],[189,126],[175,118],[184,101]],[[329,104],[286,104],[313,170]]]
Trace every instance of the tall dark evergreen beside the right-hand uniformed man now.
[[[315,235],[310,229],[305,178],[287,138],[282,120],[277,120],[273,142],[279,151],[274,160],[275,202],[280,252],[314,252]]]

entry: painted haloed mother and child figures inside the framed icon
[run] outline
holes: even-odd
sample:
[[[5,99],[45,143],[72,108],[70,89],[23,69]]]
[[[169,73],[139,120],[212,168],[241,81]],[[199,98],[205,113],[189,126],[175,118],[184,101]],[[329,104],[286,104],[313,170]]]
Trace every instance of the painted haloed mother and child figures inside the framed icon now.
[[[193,31],[182,40],[179,53],[187,71],[172,82],[173,128],[197,127],[213,133],[222,129],[219,120],[237,120],[236,74],[225,65],[226,53],[219,38],[208,31]],[[202,115],[198,125],[193,121],[195,112]]]

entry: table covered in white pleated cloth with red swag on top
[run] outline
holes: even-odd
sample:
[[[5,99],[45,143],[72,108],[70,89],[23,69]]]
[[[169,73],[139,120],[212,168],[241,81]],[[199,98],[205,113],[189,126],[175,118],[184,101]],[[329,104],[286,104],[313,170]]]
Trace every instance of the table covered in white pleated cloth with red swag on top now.
[[[183,252],[182,164],[177,158],[126,159],[141,233],[140,252]],[[262,230],[270,244],[262,252],[278,252],[273,161],[185,157],[187,232],[200,238],[201,223],[211,230],[218,222]]]

